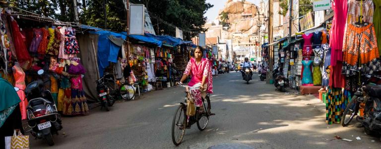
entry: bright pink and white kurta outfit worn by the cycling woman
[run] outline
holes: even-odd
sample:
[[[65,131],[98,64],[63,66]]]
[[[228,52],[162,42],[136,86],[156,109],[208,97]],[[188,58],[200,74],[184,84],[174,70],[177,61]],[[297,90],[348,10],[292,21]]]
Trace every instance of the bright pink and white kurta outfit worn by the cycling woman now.
[[[206,76],[207,90],[208,93],[213,93],[213,80],[210,71],[210,62],[207,59],[201,59],[201,62],[197,65],[194,58],[188,62],[187,68],[184,74],[191,75],[191,81],[188,83],[189,86],[201,83],[202,77]],[[195,101],[197,107],[202,105],[201,91],[199,89],[191,90],[191,95]]]

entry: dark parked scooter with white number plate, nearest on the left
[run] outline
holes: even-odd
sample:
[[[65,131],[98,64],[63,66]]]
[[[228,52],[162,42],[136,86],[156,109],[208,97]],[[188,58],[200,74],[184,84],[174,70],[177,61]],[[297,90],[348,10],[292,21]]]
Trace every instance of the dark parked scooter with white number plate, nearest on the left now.
[[[44,139],[49,146],[54,145],[53,134],[59,134],[62,129],[61,115],[57,111],[57,106],[53,100],[52,93],[45,89],[47,81],[42,80],[43,70],[38,71],[39,78],[30,82],[25,88],[25,95],[28,99],[27,123],[31,128],[32,136],[37,139]],[[18,91],[19,88],[15,87]]]

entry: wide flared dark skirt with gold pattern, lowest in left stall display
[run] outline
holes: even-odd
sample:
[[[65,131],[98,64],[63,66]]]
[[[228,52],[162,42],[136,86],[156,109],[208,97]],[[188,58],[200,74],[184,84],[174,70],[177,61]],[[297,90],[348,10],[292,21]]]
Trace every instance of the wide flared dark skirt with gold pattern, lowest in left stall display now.
[[[64,90],[64,94],[64,115],[80,115],[89,111],[83,90],[68,88]]]

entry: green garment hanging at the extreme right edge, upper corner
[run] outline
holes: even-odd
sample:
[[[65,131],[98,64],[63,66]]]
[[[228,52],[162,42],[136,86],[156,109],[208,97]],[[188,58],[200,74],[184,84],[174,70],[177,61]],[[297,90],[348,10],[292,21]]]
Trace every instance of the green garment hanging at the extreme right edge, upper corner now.
[[[381,0],[373,0],[375,11],[373,15],[373,24],[375,25],[376,37],[379,40],[377,47],[379,47],[379,54],[381,55]]]

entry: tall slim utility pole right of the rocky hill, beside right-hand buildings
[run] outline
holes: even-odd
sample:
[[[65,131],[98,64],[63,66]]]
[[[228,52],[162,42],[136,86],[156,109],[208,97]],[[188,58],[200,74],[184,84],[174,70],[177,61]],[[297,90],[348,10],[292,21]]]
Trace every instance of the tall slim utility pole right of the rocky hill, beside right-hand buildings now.
[[[267,24],[267,33],[268,33],[268,44],[272,43],[272,19],[273,19],[273,12],[272,12],[272,6],[273,6],[274,0],[268,0],[268,24]],[[273,59],[274,59],[274,53],[273,53],[272,46],[268,47],[268,68],[270,71],[267,72],[266,76],[266,83],[270,83],[270,72],[272,71],[272,65],[273,65]]]

